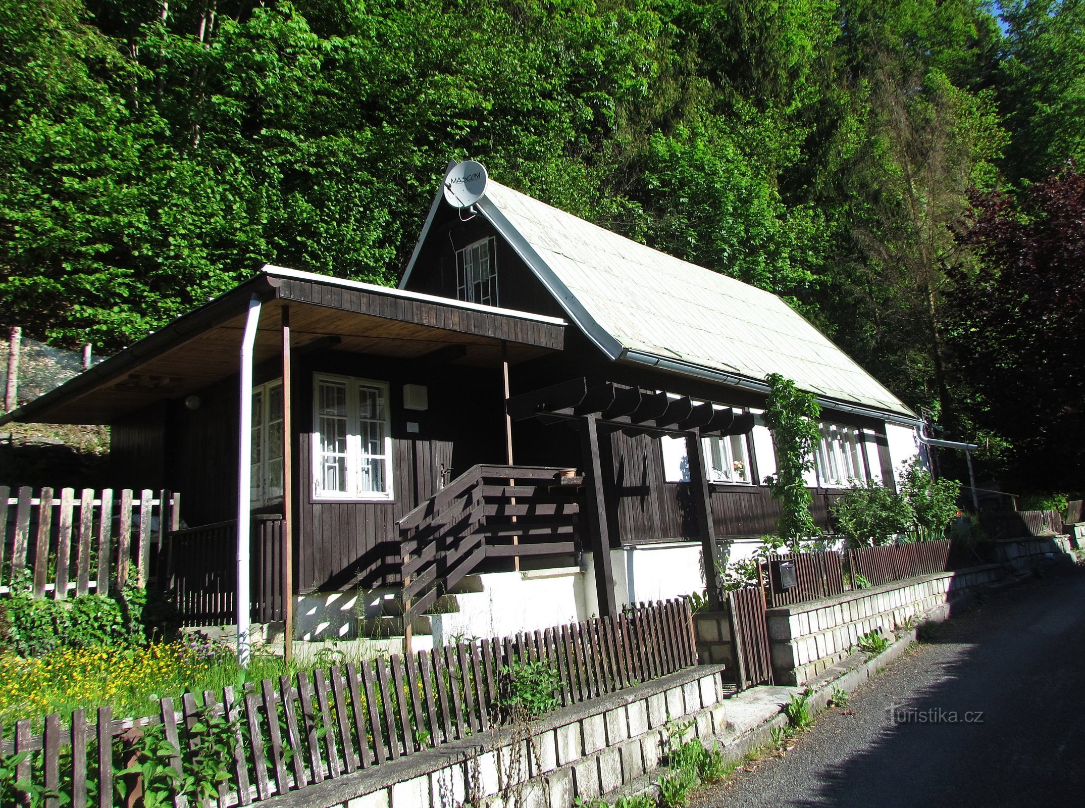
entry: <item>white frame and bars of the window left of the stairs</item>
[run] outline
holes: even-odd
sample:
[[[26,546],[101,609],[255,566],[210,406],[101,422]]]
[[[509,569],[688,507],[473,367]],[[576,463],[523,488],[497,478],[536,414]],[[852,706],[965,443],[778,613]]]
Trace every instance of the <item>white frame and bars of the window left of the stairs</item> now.
[[[324,479],[323,459],[328,452],[323,449],[323,440],[320,432],[320,387],[322,383],[343,385],[345,395],[345,450],[341,453],[344,458],[346,485],[339,490],[324,490],[322,482]],[[312,499],[314,500],[337,500],[350,502],[387,502],[395,499],[393,486],[393,444],[392,444],[392,402],[388,395],[387,382],[379,382],[371,379],[359,379],[357,376],[342,376],[333,373],[312,374]],[[361,393],[362,390],[375,390],[383,403],[383,419],[367,419],[361,416]],[[383,453],[374,453],[365,450],[361,440],[361,427],[363,423],[381,424],[384,428],[382,441]],[[361,486],[366,479],[362,470],[372,461],[383,462],[384,490],[368,491]]]

